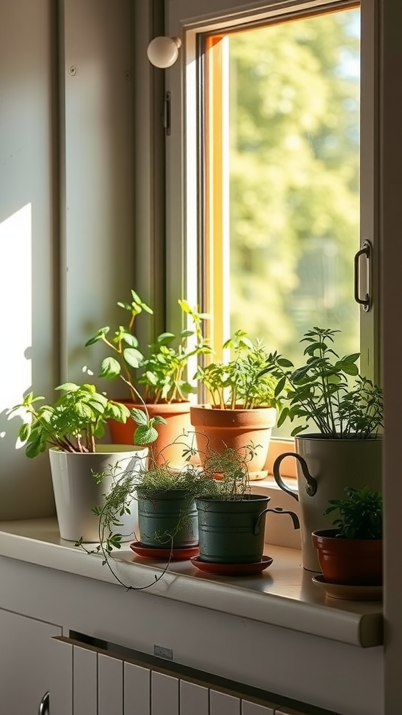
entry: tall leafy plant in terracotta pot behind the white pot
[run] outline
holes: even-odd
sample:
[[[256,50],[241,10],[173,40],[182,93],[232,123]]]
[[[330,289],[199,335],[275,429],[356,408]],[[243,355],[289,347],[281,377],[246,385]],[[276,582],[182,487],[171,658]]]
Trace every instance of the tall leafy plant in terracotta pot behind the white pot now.
[[[191,327],[185,328],[180,335],[162,332],[155,343],[148,346],[148,354],[139,349],[139,341],[134,333],[135,320],[142,312],[152,314],[152,309],[132,290],[131,302],[118,302],[117,305],[128,313],[126,325],[119,325],[112,336],[110,328],[100,328],[86,345],[93,345],[102,340],[110,350],[102,360],[99,377],[114,380],[120,378],[129,390],[130,398],[119,398],[132,409],[144,410],[150,418],[160,415],[164,423],[159,425],[159,435],[153,445],[160,463],[168,460],[173,466],[182,465],[181,451],[175,442],[191,428],[190,402],[191,393],[196,388],[187,380],[189,361],[206,352],[210,352],[202,335],[202,320],[208,316],[193,310],[186,300],[179,300],[182,314],[190,321]],[[125,423],[110,420],[110,434],[113,442],[132,444],[134,421]]]

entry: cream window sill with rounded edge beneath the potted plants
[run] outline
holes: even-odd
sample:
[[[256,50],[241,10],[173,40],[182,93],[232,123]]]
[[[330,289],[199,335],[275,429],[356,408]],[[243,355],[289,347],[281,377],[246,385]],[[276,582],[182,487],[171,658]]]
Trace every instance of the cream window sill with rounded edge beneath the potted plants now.
[[[114,553],[114,568],[124,583],[152,583],[143,591],[152,596],[363,648],[383,643],[381,603],[328,599],[313,584],[313,573],[303,570],[300,551],[267,544],[265,553],[273,557],[273,564],[262,576],[206,576],[189,561],[175,561],[160,581],[152,583],[165,564],[144,563],[126,543]],[[102,556],[88,556],[60,538],[55,518],[0,523],[0,556],[116,583],[102,566]]]

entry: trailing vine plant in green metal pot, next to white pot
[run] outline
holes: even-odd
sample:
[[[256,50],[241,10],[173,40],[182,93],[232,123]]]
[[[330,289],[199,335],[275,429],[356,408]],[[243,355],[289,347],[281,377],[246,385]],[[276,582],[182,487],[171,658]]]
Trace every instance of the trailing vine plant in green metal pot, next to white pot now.
[[[183,448],[181,442],[180,445]],[[185,458],[189,460],[194,450],[184,446]],[[108,474],[100,472],[93,478],[102,487]],[[147,462],[143,460],[134,470],[114,475],[111,488],[103,494],[102,504],[94,506],[92,511],[98,520],[97,548],[88,551],[82,539],[76,546],[81,546],[87,553],[102,553],[104,565],[118,583],[129,591],[138,590],[121,580],[111,559],[112,552],[122,546],[124,516],[131,513],[133,501],[137,502],[138,531],[134,535],[136,540],[130,545],[132,551],[145,558],[167,562],[160,576],[155,576],[148,586],[139,587],[140,590],[149,588],[162,578],[172,559],[190,558],[198,553],[195,497],[200,493],[201,483],[200,470],[194,465],[187,463],[177,470],[152,456]]]

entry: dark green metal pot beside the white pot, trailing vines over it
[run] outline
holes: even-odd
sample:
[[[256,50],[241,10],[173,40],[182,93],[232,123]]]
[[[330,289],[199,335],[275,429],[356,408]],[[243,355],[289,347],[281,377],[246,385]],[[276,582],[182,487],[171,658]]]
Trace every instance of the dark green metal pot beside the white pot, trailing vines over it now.
[[[185,548],[197,546],[198,515],[183,489],[161,492],[152,499],[137,490],[139,541],[144,546]]]

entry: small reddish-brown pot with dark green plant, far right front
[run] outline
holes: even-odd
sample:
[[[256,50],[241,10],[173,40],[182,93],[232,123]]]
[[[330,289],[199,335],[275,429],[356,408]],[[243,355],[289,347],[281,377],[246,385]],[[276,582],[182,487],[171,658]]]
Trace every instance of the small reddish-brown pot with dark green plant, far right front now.
[[[313,531],[313,545],[325,581],[358,586],[383,582],[383,502],[368,487],[345,488],[346,498],[330,499],[325,514],[338,511],[335,528]]]

